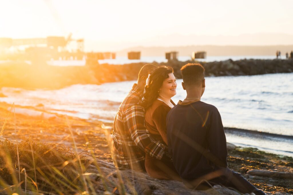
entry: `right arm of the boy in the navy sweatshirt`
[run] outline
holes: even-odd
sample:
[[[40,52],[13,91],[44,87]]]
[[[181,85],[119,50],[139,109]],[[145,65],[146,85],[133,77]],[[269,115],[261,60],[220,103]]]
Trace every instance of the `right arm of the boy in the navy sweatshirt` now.
[[[211,111],[210,125],[208,128],[207,140],[209,142],[209,150],[213,156],[220,162],[214,162],[217,165],[227,167],[227,142],[221,115],[217,108]]]

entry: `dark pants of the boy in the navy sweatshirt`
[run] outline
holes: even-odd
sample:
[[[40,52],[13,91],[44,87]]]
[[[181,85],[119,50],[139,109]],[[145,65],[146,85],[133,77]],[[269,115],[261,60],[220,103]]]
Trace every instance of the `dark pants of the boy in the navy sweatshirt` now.
[[[240,173],[229,168],[220,168],[215,172],[211,172],[193,182],[188,182],[188,184],[191,184],[195,189],[201,190],[220,184],[228,188],[236,189],[243,194],[250,194],[252,192],[256,195],[265,194],[263,191],[257,189],[250,182],[248,182]]]

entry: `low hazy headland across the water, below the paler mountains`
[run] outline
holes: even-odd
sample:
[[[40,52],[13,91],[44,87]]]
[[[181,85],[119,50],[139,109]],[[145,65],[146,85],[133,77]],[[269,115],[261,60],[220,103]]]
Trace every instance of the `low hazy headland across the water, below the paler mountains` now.
[[[171,46],[171,47],[130,47],[118,51],[117,56],[127,56],[129,51],[141,51],[142,56],[164,56],[165,52],[178,51],[179,56],[191,56],[193,51],[206,51],[207,56],[272,56],[280,50],[284,56],[286,52],[293,50],[292,45],[272,45],[272,46]]]

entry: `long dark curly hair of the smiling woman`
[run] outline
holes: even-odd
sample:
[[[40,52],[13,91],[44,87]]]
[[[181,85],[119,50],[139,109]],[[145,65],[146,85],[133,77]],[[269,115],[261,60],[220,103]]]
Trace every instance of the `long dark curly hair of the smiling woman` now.
[[[160,66],[154,70],[150,76],[149,85],[145,88],[144,100],[142,106],[147,110],[159,96],[159,89],[162,87],[166,78],[169,78],[170,73],[173,73],[173,68],[170,66]]]

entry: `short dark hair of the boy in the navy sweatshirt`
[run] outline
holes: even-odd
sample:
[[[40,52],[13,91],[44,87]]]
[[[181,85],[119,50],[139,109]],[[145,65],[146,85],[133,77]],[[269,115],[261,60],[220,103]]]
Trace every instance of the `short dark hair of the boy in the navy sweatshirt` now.
[[[199,64],[188,63],[181,69],[183,82],[185,85],[199,85],[205,79],[205,68]]]

